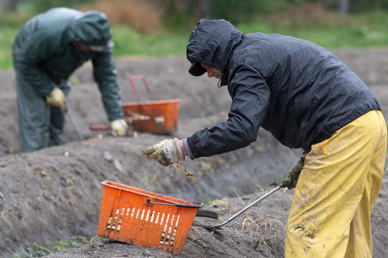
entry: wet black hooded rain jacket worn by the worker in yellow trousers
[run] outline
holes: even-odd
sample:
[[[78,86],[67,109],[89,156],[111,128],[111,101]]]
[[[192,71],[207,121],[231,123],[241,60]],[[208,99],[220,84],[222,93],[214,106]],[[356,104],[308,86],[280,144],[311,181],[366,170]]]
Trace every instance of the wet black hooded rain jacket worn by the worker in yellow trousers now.
[[[333,53],[279,34],[243,36],[230,22],[198,22],[187,59],[222,72],[232,97],[229,119],[187,138],[194,158],[246,147],[264,128],[287,147],[309,152],[373,109],[370,89]]]

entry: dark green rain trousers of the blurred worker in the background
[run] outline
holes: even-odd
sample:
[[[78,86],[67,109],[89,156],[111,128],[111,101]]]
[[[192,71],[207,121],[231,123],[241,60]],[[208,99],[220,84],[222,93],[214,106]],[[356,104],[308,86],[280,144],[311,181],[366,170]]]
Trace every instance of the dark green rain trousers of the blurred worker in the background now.
[[[55,86],[68,97],[68,80]],[[47,105],[45,97],[39,96],[33,86],[18,78],[16,92],[21,151],[31,152],[61,144],[65,114],[59,108]]]

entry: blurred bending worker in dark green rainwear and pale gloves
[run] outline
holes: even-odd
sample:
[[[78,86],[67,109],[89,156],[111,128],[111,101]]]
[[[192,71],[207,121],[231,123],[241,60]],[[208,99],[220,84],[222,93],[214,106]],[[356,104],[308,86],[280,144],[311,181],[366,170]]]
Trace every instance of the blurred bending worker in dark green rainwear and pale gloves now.
[[[62,143],[69,76],[92,60],[113,135],[126,135],[105,14],[53,8],[30,19],[12,46],[22,152]]]

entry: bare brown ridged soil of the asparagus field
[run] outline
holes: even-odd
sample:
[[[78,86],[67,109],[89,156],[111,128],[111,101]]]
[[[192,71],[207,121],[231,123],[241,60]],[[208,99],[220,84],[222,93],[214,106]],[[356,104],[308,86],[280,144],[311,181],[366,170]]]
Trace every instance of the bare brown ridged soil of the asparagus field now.
[[[333,51],[371,88],[388,110],[388,49]],[[197,217],[194,224],[225,221],[284,178],[301,150],[279,144],[266,131],[244,149],[184,165],[196,175],[190,181],[175,167],[163,167],[140,154],[146,146],[165,138],[184,138],[197,130],[227,119],[230,97],[216,79],[194,78],[187,73],[184,56],[120,58],[116,61],[124,102],[137,99],[180,98],[178,130],[171,135],[135,133],[111,137],[89,130],[108,124],[90,64],[72,77],[69,110],[83,136],[80,141],[67,120],[64,144],[32,153],[19,152],[15,76],[0,73],[0,257],[28,255],[26,248],[47,240],[83,236],[89,244],[50,257],[175,257],[156,248],[135,246],[96,237],[102,185],[111,180],[183,200],[206,202],[219,220]],[[128,75],[146,76],[147,94],[138,82],[139,96],[132,93]],[[111,159],[107,158],[111,156]],[[293,191],[280,190],[237,219],[211,234],[192,226],[182,253],[176,257],[283,257],[284,232]],[[206,202],[207,203],[207,202]],[[380,195],[371,216],[374,257],[386,257],[388,247],[388,176],[385,171]]]

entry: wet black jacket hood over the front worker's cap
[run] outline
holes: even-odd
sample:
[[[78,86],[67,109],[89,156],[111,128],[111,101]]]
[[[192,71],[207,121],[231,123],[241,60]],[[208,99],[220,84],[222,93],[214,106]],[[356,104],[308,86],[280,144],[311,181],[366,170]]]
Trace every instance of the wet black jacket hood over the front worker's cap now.
[[[217,68],[225,78],[222,85],[227,85],[228,60],[242,38],[242,32],[228,21],[201,19],[191,31],[186,48],[187,60]]]

